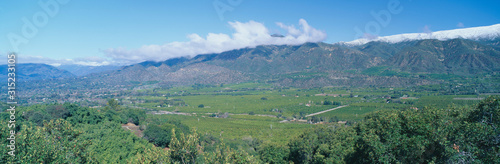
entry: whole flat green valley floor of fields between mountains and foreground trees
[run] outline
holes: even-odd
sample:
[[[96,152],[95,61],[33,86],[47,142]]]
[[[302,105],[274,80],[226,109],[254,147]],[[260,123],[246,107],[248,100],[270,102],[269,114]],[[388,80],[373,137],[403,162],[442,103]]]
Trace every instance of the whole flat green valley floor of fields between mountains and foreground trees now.
[[[133,104],[158,120],[179,120],[201,134],[226,140],[259,139],[284,145],[315,124],[358,122],[376,111],[418,110],[426,107],[472,106],[486,96],[439,95],[438,91],[415,92],[408,88],[312,89],[274,87],[265,83],[193,85],[140,90],[155,93],[135,97]],[[309,114],[345,107],[306,117]]]

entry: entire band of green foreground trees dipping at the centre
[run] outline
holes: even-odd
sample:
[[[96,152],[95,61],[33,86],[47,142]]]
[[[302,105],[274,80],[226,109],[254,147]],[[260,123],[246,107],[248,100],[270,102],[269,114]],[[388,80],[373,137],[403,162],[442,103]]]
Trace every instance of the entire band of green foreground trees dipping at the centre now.
[[[102,110],[20,108],[16,156],[7,154],[8,140],[1,141],[0,163],[500,163],[498,97],[470,109],[375,112],[352,126],[318,125],[286,145],[255,142],[253,151],[114,103]],[[0,137],[8,138],[9,115],[1,116]],[[146,127],[145,139],[120,127],[135,118]]]

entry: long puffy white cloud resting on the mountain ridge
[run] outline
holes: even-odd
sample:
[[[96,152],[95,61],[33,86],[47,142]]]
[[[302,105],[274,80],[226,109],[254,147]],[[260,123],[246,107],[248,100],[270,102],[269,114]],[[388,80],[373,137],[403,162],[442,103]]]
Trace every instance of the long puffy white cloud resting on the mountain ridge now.
[[[276,23],[287,32],[284,37],[272,37],[264,24],[249,21],[229,22],[234,33],[209,33],[205,38],[198,34],[187,36],[187,42],[171,42],[164,45],[145,45],[138,49],[110,48],[103,50],[107,57],[121,64],[138,63],[147,60],[163,61],[181,56],[220,53],[233,49],[255,47],[258,45],[298,45],[305,42],[320,42],[326,39],[326,33],[311,27],[304,19],[299,20],[300,28],[293,25]]]

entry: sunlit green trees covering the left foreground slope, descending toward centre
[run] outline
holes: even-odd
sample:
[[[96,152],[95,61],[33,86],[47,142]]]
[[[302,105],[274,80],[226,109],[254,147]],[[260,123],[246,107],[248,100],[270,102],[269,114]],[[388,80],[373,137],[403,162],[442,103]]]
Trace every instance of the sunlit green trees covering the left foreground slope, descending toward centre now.
[[[9,111],[0,113],[0,163],[259,163],[179,121],[148,120],[144,110],[122,108],[113,99],[103,109],[69,103],[17,108],[15,129],[7,126]],[[124,130],[124,123],[147,127],[144,138]],[[10,130],[14,149],[8,147]]]

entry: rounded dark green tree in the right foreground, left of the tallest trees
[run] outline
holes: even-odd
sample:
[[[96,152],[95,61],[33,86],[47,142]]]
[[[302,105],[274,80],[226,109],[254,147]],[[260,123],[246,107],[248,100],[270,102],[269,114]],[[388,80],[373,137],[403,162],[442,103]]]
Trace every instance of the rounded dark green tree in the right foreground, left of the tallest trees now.
[[[425,158],[426,148],[431,142],[427,134],[432,134],[429,118],[413,113],[377,112],[367,116],[355,128],[359,140],[358,156],[368,163],[429,162]],[[407,126],[404,120],[411,121]]]

